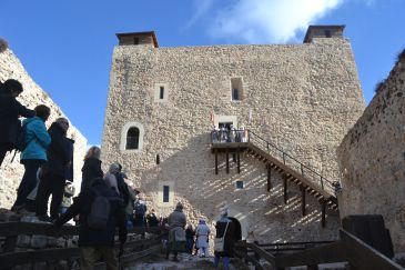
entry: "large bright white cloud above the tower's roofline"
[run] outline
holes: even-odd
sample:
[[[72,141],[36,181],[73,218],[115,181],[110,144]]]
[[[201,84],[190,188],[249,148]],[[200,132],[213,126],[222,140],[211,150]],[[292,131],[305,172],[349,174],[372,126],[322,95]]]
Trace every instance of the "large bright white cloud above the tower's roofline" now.
[[[239,0],[217,12],[209,31],[214,38],[232,41],[286,42],[343,2],[344,0]]]

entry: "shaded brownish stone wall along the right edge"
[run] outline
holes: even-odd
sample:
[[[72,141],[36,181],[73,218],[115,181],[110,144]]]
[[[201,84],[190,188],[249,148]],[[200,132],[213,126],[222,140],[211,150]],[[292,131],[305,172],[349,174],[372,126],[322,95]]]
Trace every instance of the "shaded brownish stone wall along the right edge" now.
[[[338,148],[342,217],[383,214],[395,252],[405,252],[404,56]]]

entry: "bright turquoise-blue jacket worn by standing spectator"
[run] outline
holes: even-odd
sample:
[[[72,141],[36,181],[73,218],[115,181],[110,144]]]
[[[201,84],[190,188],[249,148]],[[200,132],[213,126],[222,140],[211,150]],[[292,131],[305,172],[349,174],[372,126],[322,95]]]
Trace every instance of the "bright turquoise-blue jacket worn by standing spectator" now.
[[[47,148],[51,143],[51,137],[47,131],[43,120],[39,117],[24,119],[26,149],[21,152],[21,160],[39,159],[47,160]]]

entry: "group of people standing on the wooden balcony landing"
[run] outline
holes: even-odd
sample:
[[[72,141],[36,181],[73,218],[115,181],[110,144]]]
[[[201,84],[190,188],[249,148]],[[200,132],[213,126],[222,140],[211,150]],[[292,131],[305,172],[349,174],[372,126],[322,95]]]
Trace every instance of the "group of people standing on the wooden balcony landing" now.
[[[233,124],[221,126],[220,128],[214,126],[212,130],[212,142],[249,142],[249,130],[243,126],[239,129]]]

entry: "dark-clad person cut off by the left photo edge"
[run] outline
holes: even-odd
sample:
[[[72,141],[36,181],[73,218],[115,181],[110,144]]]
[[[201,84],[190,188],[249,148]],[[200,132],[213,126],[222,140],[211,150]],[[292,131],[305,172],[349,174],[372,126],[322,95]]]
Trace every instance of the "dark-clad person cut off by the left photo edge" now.
[[[19,117],[32,118],[33,110],[27,109],[17,97],[23,91],[21,83],[17,80],[0,82],[0,167],[6,153],[17,148],[18,138],[21,133]]]

